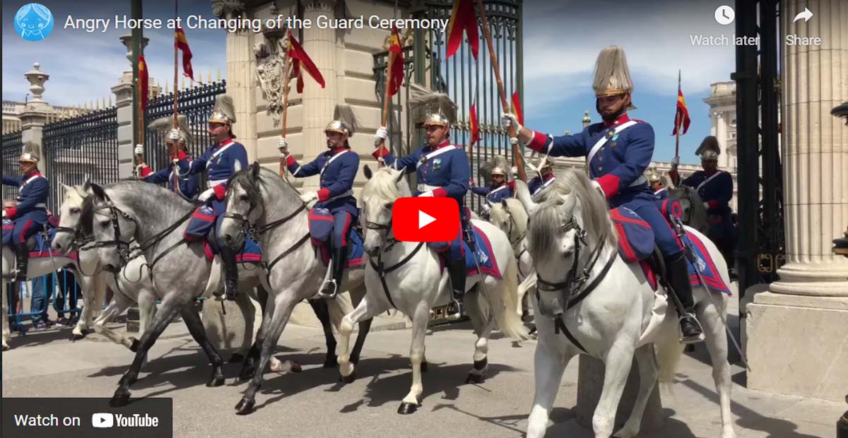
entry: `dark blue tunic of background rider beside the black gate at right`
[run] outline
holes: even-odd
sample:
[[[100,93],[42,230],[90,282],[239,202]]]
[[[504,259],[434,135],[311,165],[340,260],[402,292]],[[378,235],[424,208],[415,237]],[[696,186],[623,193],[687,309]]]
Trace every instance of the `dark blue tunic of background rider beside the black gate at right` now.
[[[715,170],[707,173],[699,170],[688,178],[680,181],[683,186],[695,188],[701,200],[709,204],[706,213],[710,217],[709,237],[722,250],[725,242],[732,245],[734,234],[733,222],[730,219],[730,198],[734,196],[734,179],[728,172]]]

